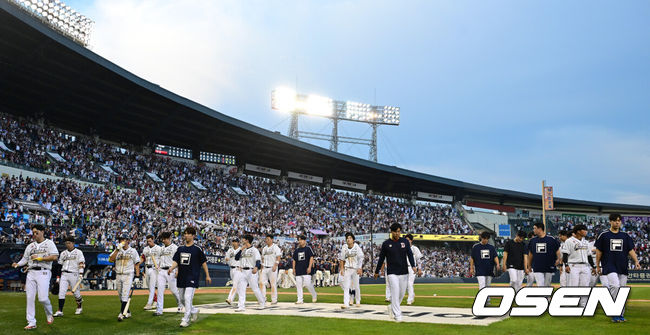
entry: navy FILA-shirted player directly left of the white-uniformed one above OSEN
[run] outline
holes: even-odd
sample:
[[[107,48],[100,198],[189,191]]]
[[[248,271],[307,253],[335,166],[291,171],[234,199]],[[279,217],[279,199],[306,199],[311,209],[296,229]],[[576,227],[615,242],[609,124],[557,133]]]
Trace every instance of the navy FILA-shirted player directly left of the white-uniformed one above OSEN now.
[[[528,268],[535,271],[537,286],[551,286],[551,278],[556,266],[562,262],[560,242],[546,235],[544,224],[533,225],[533,237],[528,243]]]

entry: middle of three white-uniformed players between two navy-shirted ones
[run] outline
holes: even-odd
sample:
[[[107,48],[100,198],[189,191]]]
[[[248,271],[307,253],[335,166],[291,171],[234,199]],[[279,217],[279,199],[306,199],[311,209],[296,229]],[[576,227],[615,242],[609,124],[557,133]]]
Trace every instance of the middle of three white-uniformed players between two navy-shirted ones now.
[[[244,235],[242,241],[242,247],[235,259],[239,261],[239,269],[241,274],[239,275],[239,282],[237,283],[237,294],[239,295],[239,303],[237,304],[237,312],[243,312],[246,310],[246,287],[250,286],[251,290],[257,298],[257,302],[260,304],[260,309],[264,309],[266,306],[266,299],[260,292],[259,287],[259,269],[262,267],[260,251],[257,248],[253,247],[252,235]]]

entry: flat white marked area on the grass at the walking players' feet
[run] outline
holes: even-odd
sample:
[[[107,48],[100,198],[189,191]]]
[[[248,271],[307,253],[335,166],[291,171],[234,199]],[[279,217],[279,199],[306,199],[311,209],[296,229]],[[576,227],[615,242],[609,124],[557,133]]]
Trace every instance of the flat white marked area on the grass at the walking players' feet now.
[[[258,309],[254,303],[246,304],[245,312],[235,312],[235,306],[224,303],[196,305],[200,314],[254,314],[254,315],[278,315],[278,316],[308,316],[322,318],[356,319],[356,320],[379,320],[390,321],[386,305],[361,305],[341,309],[340,304],[311,303],[296,305],[294,303],[280,302],[276,305],[268,305],[264,309]],[[164,312],[176,313],[176,308],[166,308]],[[472,315],[470,308],[449,308],[449,307],[421,307],[402,306],[402,318],[404,322],[423,323],[445,323],[455,325],[487,326],[493,322],[501,321],[504,317],[480,317]]]

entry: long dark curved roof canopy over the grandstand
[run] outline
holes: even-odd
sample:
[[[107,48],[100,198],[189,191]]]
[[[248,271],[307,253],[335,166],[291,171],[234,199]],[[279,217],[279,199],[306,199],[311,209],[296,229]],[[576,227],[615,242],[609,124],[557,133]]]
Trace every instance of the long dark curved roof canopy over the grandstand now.
[[[340,154],[221,114],[148,82],[0,1],[0,108],[43,115],[73,132],[136,145],[235,155],[238,165],[366,184],[383,194],[429,192],[541,209],[541,196],[465,183]],[[170,46],[173,47],[173,46]],[[146,61],[146,60],[143,60]],[[650,206],[555,199],[556,210],[650,214]]]

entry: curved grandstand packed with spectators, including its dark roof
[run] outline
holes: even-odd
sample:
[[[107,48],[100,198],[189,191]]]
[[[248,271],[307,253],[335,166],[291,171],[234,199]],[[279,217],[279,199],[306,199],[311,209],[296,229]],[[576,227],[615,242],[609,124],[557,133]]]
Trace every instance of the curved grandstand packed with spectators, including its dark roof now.
[[[370,276],[377,243],[397,222],[416,235],[424,277],[462,278],[479,231],[510,236],[540,220],[540,195],[387,166],[247,124],[135,76],[6,1],[0,35],[0,243],[24,248],[35,223],[57,244],[72,235],[94,257],[85,274],[94,287],[106,287],[103,255],[120,235],[140,250],[148,234],[171,231],[179,243],[196,226],[223,279],[213,284],[223,285],[225,251],[244,233],[258,245],[275,235],[284,255],[306,234],[325,271],[351,231]],[[603,231],[613,212],[625,216],[650,268],[650,206],[555,198],[549,232],[577,223]]]

